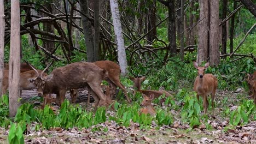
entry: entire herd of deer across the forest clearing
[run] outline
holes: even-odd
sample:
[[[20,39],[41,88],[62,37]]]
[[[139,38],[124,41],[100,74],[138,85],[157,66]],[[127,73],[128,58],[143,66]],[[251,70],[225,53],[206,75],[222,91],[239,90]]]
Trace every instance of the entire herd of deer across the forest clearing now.
[[[112,99],[117,87],[123,90],[127,102],[131,102],[124,85],[120,82],[120,67],[112,61],[97,61],[94,63],[75,62],[64,67],[56,68],[50,75],[47,75],[45,70],[48,69],[51,64],[52,63],[44,70],[37,70],[27,62],[21,64],[20,89],[28,90],[37,88],[38,96],[44,98],[42,107],[51,102],[61,105],[65,100],[67,90],[70,91],[72,103],[75,103],[78,95],[77,89],[84,87],[88,88],[88,92],[95,100],[95,111],[97,110],[97,106],[108,106],[113,103]],[[214,95],[218,86],[217,78],[212,74],[204,73],[209,66],[208,62],[204,67],[199,67],[196,62],[193,62],[193,64],[197,69],[197,77],[193,88],[197,93],[196,98],[199,99],[199,95],[201,95],[203,99],[203,112],[206,113],[209,105],[207,95],[211,94],[212,113],[214,114]],[[8,89],[8,69],[9,65],[4,64],[2,94],[7,93]],[[142,93],[143,95],[141,106],[146,106],[146,108],[141,109],[141,113],[155,115],[152,100],[163,94],[165,98],[172,97],[172,95],[166,91],[142,90],[141,83],[146,80],[144,76],[129,77],[134,83],[133,87],[135,89],[137,88],[135,92]],[[256,71],[254,71],[254,74],[248,75],[247,81],[252,91],[254,103],[256,104],[255,78]],[[106,87],[105,94],[102,92],[101,88],[102,80],[106,80],[109,83],[109,86]],[[56,98],[51,98],[51,94],[56,94]],[[164,101],[165,98],[160,101]]]

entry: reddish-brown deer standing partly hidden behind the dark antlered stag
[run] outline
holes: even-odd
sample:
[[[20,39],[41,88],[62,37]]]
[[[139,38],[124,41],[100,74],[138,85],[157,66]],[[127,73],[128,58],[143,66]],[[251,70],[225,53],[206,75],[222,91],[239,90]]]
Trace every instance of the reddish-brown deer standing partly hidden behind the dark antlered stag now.
[[[112,91],[112,92],[108,92],[110,93],[110,100],[113,99],[113,95],[114,95],[114,91],[115,89],[117,89],[117,87],[121,88],[125,94],[126,100],[128,103],[131,103],[130,98],[127,95],[126,89],[124,87],[124,85],[120,82],[120,67],[117,63],[112,62],[112,61],[96,61],[94,62],[95,65],[97,65],[97,67],[106,70],[108,72],[108,76],[106,80],[109,83],[109,88],[108,91]],[[72,89],[71,91],[71,98],[72,101],[75,101],[75,99],[78,96],[78,91],[75,89]],[[90,97],[88,96],[88,104],[90,103]]]

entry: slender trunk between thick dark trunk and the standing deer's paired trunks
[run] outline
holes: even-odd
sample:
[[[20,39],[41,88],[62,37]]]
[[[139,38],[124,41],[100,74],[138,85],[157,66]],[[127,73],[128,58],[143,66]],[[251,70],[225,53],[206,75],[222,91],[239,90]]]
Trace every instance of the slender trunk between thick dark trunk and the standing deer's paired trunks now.
[[[184,0],[181,0],[181,61],[184,60]]]

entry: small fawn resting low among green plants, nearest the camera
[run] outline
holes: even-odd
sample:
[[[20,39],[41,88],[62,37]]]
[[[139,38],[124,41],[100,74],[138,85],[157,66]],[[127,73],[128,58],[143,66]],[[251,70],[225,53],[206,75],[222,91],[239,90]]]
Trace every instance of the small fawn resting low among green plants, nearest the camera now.
[[[152,100],[154,99],[154,94],[150,94],[149,97],[147,97],[147,95],[145,94],[142,94],[142,95],[143,95],[143,100],[142,100],[141,106],[146,106],[146,108],[141,109],[140,112],[144,113],[145,115],[149,113],[151,116],[155,116],[155,109],[151,104]]]

